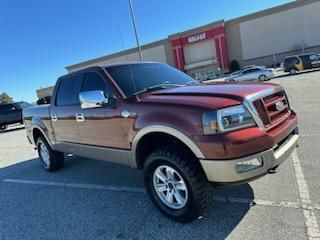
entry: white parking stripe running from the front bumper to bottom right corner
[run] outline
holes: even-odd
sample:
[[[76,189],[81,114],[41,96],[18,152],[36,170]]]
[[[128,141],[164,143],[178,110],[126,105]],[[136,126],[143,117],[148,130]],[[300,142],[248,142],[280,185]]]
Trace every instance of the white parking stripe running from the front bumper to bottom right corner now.
[[[304,179],[300,160],[296,150],[292,153],[292,160],[293,160],[293,166],[296,174],[300,200],[303,205],[310,205],[311,204],[310,194],[308,191],[307,183]],[[304,207],[303,215],[305,219],[308,239],[310,240],[320,239],[319,226],[317,223],[314,210]]]

